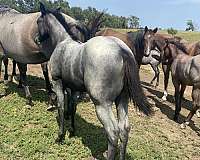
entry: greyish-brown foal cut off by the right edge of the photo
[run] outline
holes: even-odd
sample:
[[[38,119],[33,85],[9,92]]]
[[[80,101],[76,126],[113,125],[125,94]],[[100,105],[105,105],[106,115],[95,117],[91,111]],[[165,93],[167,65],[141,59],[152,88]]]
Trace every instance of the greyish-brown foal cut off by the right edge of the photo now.
[[[181,99],[186,86],[193,86],[193,107],[184,123],[181,124],[181,128],[185,128],[189,125],[189,122],[196,113],[197,109],[200,108],[200,55],[188,55],[187,48],[183,44],[175,41],[169,41],[168,45],[170,45],[170,52],[174,53],[171,55],[173,59],[171,65],[171,75],[175,88],[175,121],[178,121],[178,116],[181,111]],[[163,56],[164,61],[168,58],[169,56]]]

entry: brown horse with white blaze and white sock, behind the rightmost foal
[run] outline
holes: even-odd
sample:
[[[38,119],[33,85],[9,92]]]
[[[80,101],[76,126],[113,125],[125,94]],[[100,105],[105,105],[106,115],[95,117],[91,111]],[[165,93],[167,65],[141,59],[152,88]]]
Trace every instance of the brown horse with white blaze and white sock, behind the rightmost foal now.
[[[162,34],[155,34],[148,28],[146,29],[146,35],[148,35],[146,41],[148,41],[149,48],[153,49],[157,47],[161,52],[162,57],[162,67],[164,72],[164,84],[165,84],[165,91],[164,91],[164,98],[167,96],[167,86],[168,86],[168,79],[169,79],[169,72],[171,69],[171,65],[177,57],[177,46],[184,50],[184,53],[189,56],[195,56],[199,54],[199,42],[193,43],[188,45],[185,40],[174,37],[171,38],[170,36],[162,35]],[[169,44],[170,43],[170,44]],[[172,45],[176,44],[176,45]],[[176,49],[174,49],[176,48]],[[180,97],[183,97],[184,91],[185,91],[186,85],[182,85],[181,91],[180,91]],[[174,120],[178,119],[178,114],[180,110],[176,109]]]

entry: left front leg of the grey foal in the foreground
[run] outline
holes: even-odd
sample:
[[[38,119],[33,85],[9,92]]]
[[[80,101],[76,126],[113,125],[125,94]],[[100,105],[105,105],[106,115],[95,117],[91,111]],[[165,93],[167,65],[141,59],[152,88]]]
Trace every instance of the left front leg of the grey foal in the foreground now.
[[[62,80],[53,80],[53,88],[57,96],[57,107],[58,107],[58,116],[57,121],[59,125],[58,138],[56,139],[57,143],[61,143],[65,138],[65,120],[64,120],[64,92],[62,86]]]

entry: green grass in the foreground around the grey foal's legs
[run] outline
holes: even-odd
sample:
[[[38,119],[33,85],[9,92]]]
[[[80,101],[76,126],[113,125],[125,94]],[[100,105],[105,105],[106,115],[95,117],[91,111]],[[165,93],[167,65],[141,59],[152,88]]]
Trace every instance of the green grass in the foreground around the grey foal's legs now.
[[[23,91],[15,84],[0,85],[7,93],[0,99],[0,159],[104,159],[106,136],[91,102],[78,106],[75,137],[68,138],[67,132],[64,144],[58,145],[54,142],[58,131],[56,113],[46,111],[47,96],[40,89],[44,82],[34,77],[31,82],[35,104],[31,109],[26,108]],[[132,129],[127,159],[187,159],[184,144],[170,140],[160,121],[138,117],[133,110],[129,116]]]

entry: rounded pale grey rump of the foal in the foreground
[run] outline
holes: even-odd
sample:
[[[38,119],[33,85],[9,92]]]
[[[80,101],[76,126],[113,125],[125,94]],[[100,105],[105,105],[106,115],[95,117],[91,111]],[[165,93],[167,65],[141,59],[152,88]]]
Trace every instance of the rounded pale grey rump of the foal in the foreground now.
[[[116,98],[122,91],[123,52],[131,50],[115,37],[94,37],[85,44],[84,82],[93,98]]]

